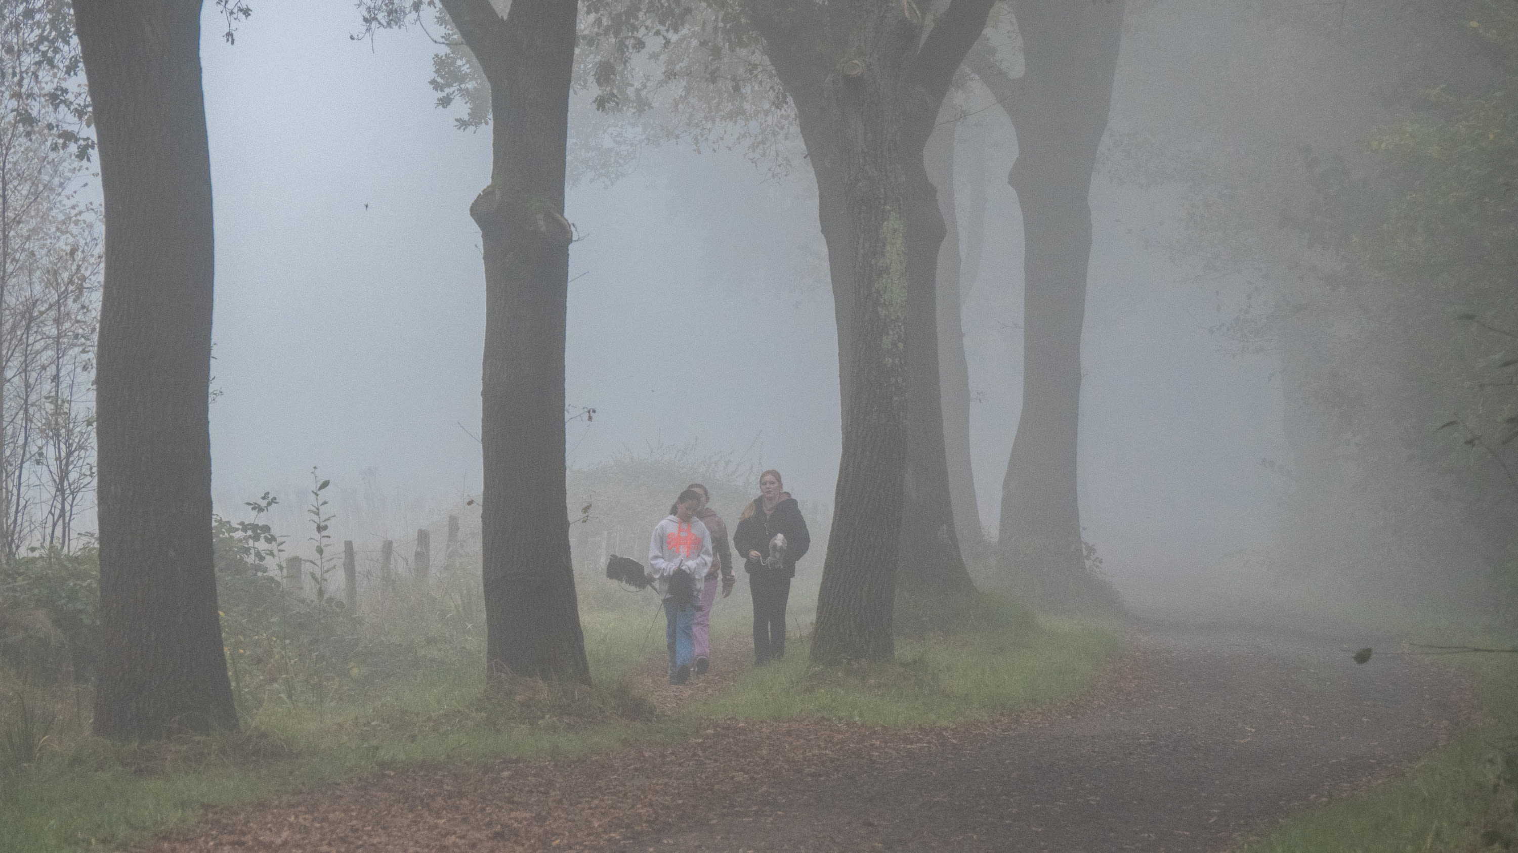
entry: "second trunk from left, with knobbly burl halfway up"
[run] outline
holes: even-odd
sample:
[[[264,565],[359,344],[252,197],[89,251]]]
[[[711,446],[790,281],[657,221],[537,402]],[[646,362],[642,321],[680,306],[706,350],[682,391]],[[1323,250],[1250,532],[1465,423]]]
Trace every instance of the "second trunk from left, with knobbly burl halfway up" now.
[[[490,185],[469,206],[484,240],[486,662],[492,674],[587,681],[565,515],[563,217],[575,0],[443,0],[490,82]]]

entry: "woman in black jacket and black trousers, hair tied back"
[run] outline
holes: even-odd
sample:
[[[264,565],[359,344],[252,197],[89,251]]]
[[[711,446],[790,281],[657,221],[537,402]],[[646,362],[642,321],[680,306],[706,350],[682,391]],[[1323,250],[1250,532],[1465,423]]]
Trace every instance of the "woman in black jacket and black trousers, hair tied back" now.
[[[802,507],[785,490],[779,471],[759,475],[759,496],[741,516],[733,548],[744,556],[748,590],[754,600],[754,663],[785,657],[785,606],[791,598],[795,562],[806,556],[812,536]]]

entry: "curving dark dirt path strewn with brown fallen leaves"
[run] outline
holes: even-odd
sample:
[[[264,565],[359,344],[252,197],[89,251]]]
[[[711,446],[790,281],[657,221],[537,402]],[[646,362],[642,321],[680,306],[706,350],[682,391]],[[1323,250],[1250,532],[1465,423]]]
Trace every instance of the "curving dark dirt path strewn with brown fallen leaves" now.
[[[1216,851],[1471,713],[1448,669],[1333,634],[1142,624],[1078,703],[956,729],[713,721],[689,744],[376,776],[209,811],[155,851]]]

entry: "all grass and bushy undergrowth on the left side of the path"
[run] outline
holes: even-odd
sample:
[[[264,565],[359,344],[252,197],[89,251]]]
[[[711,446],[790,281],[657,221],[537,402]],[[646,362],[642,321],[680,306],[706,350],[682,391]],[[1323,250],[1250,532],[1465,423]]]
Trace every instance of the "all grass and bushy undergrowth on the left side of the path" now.
[[[597,469],[594,510],[609,518],[633,513],[621,505],[625,499],[613,499],[631,493],[624,480],[668,481],[657,490],[666,499],[700,474],[713,495],[727,496],[718,511],[736,519],[748,489],[716,484],[720,471],[692,472],[676,463],[682,460],[657,457]],[[613,471],[618,466],[627,471]],[[630,595],[581,566],[577,584],[592,686],[515,678],[487,685],[478,557],[460,552],[425,578],[381,577],[351,610],[328,587],[334,563],[323,527],[331,519],[326,487],[313,472],[316,559],[301,568],[310,569],[314,598],[293,592],[290,578],[281,577],[290,556],[285,539],[264,524],[275,502],[270,495],[247,504],[252,521],[217,521],[217,592],[238,732],[152,744],[91,736],[85,675],[94,662],[80,650],[94,630],[94,586],[87,583],[97,574],[94,551],[46,554],[5,578],[12,592],[35,592],[26,601],[30,618],[43,624],[41,613],[62,627],[50,628],[47,642],[24,659],[0,660],[0,851],[128,847],[194,821],[203,806],[249,803],[387,768],[669,742],[698,730],[701,715],[815,715],[871,724],[970,719],[1072,695],[1117,648],[1114,634],[1096,624],[1035,618],[1009,598],[984,595],[964,633],[900,641],[896,663],[812,669],[805,633],[815,610],[818,552],[802,566],[791,598],[792,636],[802,639],[789,657],[747,672],[730,694],[704,706],[657,716],[630,680],[642,662],[662,657],[663,619],[653,596]],[[826,530],[826,519],[809,521]],[[595,543],[597,552],[604,542]],[[747,630],[747,586],[739,583],[738,593],[713,610],[713,639]],[[52,677],[32,678],[35,672]]]

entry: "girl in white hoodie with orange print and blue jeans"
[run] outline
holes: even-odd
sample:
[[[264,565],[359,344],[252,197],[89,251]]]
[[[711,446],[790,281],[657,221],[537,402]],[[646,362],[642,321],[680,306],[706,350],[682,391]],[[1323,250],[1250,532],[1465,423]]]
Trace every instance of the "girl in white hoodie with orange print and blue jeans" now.
[[[712,534],[695,518],[700,508],[700,492],[680,492],[648,542],[648,577],[665,606],[671,685],[683,685],[691,678],[695,607],[701,600],[706,571],[712,566]],[[677,572],[683,574],[677,577]]]

